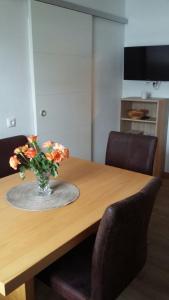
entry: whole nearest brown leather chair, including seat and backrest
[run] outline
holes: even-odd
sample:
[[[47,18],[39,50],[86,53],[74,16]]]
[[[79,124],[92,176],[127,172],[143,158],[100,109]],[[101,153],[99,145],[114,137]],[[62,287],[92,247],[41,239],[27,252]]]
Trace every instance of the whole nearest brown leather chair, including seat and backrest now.
[[[145,264],[147,229],[159,187],[160,180],[154,178],[137,194],[108,207],[96,238],[87,238],[39,279],[66,300],[116,299]]]

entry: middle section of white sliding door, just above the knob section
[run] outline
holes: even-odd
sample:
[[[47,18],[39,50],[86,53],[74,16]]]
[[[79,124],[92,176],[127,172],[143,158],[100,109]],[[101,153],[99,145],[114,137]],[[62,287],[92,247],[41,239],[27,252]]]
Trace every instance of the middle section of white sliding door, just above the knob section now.
[[[36,93],[90,92],[91,58],[36,52]]]

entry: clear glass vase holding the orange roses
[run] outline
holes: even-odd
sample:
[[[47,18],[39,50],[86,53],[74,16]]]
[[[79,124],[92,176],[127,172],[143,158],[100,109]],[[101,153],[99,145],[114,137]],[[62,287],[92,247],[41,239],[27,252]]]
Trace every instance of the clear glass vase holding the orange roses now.
[[[52,193],[52,189],[49,185],[49,177],[48,173],[42,173],[36,175],[37,177],[37,186],[38,186],[38,194],[40,196],[47,196]]]

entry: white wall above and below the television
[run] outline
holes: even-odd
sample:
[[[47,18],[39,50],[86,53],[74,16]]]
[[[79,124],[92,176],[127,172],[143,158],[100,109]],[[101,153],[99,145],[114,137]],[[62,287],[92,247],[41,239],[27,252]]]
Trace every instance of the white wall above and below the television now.
[[[126,0],[125,46],[169,45],[169,1]],[[152,83],[123,81],[123,96],[141,96],[142,91],[152,97],[169,98],[169,82],[162,82],[159,89]],[[166,147],[165,170],[169,172],[169,129]]]

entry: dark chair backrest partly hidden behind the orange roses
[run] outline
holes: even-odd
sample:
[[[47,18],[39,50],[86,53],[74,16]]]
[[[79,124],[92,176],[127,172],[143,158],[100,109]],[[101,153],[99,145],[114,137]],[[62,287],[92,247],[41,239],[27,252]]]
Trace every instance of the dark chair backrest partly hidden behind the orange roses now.
[[[10,156],[18,146],[23,146],[27,143],[27,138],[24,135],[17,135],[0,139],[0,178],[16,173],[9,165]]]

